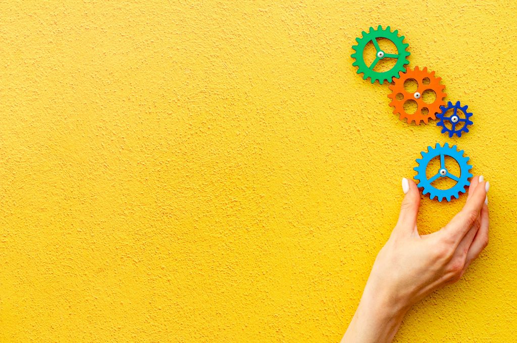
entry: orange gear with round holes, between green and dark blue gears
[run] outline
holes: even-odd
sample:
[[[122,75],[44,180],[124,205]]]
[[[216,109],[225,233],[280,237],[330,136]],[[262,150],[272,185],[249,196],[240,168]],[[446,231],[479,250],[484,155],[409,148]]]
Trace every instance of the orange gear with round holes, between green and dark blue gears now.
[[[423,83],[423,80],[426,78],[429,79],[428,84]],[[414,93],[407,92],[404,89],[404,81],[409,79],[414,79],[418,83],[417,90]],[[400,79],[393,80],[394,83],[389,86],[392,93],[388,95],[388,98],[391,99],[389,105],[395,108],[393,114],[400,114],[400,120],[406,119],[408,124],[413,120],[417,125],[420,125],[420,121],[427,124],[429,119],[436,119],[436,114],[440,112],[440,106],[445,105],[444,98],[447,96],[444,92],[445,86],[440,84],[441,77],[435,77],[434,71],[428,72],[427,67],[423,68],[423,70],[415,67],[415,70],[408,68],[405,73],[400,72]],[[436,99],[430,104],[422,100],[423,92],[428,89],[432,89],[436,93]],[[397,99],[397,95],[399,95],[399,98],[402,95],[402,99]],[[408,100],[414,100],[418,105],[417,111],[414,114],[408,114],[404,111],[404,103]],[[427,108],[427,113],[425,113],[424,108]]]

